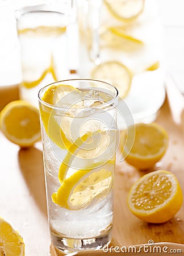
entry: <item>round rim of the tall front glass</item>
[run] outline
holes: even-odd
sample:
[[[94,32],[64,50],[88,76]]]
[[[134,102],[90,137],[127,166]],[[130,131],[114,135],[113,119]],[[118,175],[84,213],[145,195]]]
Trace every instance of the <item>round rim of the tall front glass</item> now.
[[[106,84],[108,86],[110,86],[113,90],[114,90],[114,94],[115,96],[110,100],[110,101],[107,101],[107,102],[104,102],[101,107],[103,108],[107,108],[108,106],[110,105],[113,105],[113,102],[115,101],[116,98],[118,98],[118,90],[116,89],[116,87],[112,84],[109,84],[108,82],[104,82],[104,81],[101,81],[101,80],[95,80],[95,79],[66,79],[66,80],[61,80],[61,81],[56,81],[56,82],[52,82],[51,84],[48,84],[48,85],[45,85],[43,88],[41,88],[39,90],[39,93],[38,93],[38,100],[41,104],[43,104],[44,106],[48,107],[48,108],[51,108],[51,109],[55,109],[55,110],[65,110],[68,109],[68,107],[64,108],[64,107],[59,107],[59,106],[55,106],[53,104],[49,104],[45,101],[43,101],[40,97],[40,94],[43,92],[43,90],[48,87],[48,86],[51,86],[51,85],[55,85],[55,84],[58,84],[60,82],[68,82],[68,81],[93,81],[93,82],[101,82],[102,84]],[[98,88],[98,87],[96,87]],[[90,107],[86,107],[86,108],[77,108],[77,109],[90,109]]]

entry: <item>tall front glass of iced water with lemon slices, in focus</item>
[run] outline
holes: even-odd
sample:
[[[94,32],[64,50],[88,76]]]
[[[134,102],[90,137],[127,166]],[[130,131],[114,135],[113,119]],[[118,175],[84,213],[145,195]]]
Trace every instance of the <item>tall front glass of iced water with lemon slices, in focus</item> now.
[[[118,91],[73,79],[39,92],[48,218],[56,249],[100,249],[111,240]]]

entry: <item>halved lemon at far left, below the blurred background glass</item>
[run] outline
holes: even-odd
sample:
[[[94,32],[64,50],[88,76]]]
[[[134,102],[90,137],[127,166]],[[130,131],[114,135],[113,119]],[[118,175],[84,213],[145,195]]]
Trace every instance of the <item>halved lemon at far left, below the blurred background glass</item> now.
[[[26,101],[11,101],[0,114],[2,133],[22,147],[32,146],[40,139],[39,110]]]

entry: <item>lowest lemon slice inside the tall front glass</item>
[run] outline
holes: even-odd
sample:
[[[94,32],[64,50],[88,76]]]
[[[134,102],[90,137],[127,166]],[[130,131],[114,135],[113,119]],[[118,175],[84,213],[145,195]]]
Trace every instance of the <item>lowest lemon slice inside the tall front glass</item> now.
[[[52,200],[55,204],[69,210],[86,208],[95,201],[103,200],[112,188],[114,161],[104,166],[94,163],[89,170],[79,170],[65,179]]]

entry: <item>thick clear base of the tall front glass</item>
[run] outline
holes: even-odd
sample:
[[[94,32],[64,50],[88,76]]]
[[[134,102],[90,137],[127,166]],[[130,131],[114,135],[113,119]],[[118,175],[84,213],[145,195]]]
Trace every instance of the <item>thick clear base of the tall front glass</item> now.
[[[103,246],[108,245],[112,238],[112,230],[102,236],[77,239],[64,237],[61,234],[51,232],[51,240],[56,251],[65,254],[81,250],[99,250]]]

